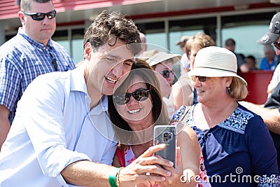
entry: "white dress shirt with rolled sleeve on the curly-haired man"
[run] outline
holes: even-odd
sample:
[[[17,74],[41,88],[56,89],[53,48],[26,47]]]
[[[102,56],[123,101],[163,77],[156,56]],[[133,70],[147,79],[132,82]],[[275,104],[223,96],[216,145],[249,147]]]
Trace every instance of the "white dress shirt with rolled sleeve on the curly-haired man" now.
[[[90,111],[82,67],[38,76],[29,85],[1,148],[1,187],[71,186],[60,174],[67,165],[111,165],[117,144],[107,97]]]

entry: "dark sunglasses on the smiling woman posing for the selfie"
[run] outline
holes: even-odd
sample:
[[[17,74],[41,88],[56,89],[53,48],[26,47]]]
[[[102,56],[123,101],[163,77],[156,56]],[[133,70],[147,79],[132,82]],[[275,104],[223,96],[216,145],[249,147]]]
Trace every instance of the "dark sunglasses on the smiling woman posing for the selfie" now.
[[[138,102],[142,102],[148,99],[149,92],[151,92],[151,90],[141,88],[132,93],[113,95],[113,99],[117,104],[127,104],[128,102],[130,102],[130,97],[133,97]]]

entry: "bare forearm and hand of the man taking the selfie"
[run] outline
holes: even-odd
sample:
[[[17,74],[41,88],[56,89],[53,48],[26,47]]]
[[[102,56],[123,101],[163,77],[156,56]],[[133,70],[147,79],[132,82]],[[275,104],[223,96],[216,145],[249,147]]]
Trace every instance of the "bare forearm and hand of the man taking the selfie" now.
[[[155,165],[169,167],[171,165],[168,160],[151,156],[163,148],[165,148],[164,144],[153,146],[137,158],[137,160],[134,160],[128,167],[121,169],[119,176],[120,186],[131,187],[138,183],[147,183],[147,181],[164,181],[165,178],[162,178],[162,176],[169,176],[170,174],[167,174],[167,171],[162,167]],[[61,174],[67,183],[76,186],[110,186],[108,179],[113,169],[114,167],[109,165],[80,160],[65,167]],[[157,175],[146,176],[146,172]]]

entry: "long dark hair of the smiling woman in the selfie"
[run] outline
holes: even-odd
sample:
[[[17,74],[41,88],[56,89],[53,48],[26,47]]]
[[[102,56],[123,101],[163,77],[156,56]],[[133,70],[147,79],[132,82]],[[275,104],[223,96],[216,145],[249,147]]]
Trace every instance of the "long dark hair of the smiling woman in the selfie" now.
[[[160,95],[160,83],[158,81],[158,76],[155,74],[155,71],[153,71],[153,69],[148,65],[147,62],[143,60],[135,60],[130,74],[127,76],[125,81],[116,89],[113,95],[123,94],[127,92],[128,88],[130,88],[130,86],[132,85],[134,76],[140,76],[146,83],[147,88],[151,90],[154,125],[167,125],[169,123],[169,118],[162,104],[162,96]],[[131,132],[132,129],[118,113],[113,101],[113,96],[108,96],[108,98],[109,116],[111,118],[111,122],[113,123],[113,127],[116,130],[118,138],[124,139],[125,131]],[[126,141],[129,141],[129,139],[130,137],[126,137]]]

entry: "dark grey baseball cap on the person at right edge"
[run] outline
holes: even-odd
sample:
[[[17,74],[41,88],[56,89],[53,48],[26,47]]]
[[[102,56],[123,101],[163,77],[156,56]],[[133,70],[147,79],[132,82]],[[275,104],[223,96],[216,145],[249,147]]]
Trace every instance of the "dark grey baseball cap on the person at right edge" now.
[[[276,13],[269,25],[269,32],[258,39],[258,43],[263,46],[267,46],[274,43],[276,39],[280,37],[280,13]]]

